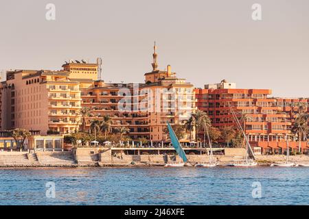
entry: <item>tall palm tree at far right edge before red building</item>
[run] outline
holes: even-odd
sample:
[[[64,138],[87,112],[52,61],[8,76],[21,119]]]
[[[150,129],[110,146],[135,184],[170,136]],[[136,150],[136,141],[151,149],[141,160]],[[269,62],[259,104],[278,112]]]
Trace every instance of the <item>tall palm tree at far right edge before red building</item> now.
[[[308,119],[309,114],[306,113],[306,106],[304,103],[297,103],[298,113],[296,114],[295,122],[292,127],[292,132],[298,136],[298,149],[301,153],[301,139],[308,133]]]

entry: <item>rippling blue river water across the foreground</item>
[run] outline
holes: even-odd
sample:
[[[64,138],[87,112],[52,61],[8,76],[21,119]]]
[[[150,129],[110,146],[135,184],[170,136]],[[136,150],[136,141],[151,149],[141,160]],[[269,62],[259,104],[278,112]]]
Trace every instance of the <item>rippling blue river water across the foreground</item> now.
[[[309,205],[309,168],[0,169],[0,205]]]

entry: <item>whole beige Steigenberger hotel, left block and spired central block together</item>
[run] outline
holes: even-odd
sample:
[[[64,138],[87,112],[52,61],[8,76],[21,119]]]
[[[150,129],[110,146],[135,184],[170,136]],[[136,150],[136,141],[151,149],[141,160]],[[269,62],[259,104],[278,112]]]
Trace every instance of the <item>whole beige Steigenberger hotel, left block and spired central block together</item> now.
[[[167,70],[158,69],[157,47],[154,49],[152,71],[144,75],[145,83],[138,85],[138,92],[142,89],[152,92],[141,95],[136,94],[136,85],[133,83],[105,83],[98,80],[99,65],[84,61],[71,60],[58,71],[8,71],[0,89],[1,131],[18,127],[39,130],[43,135],[48,130],[71,133],[82,128],[80,109],[89,107],[91,116],[87,118],[87,129],[91,120],[100,120],[108,115],[113,120],[112,127],[128,127],[128,136],[132,139],[147,138],[154,142],[168,140],[166,121],[183,124],[190,113],[196,110],[196,98],[193,85],[185,79],[177,78],[170,66]],[[122,88],[130,90],[132,94],[131,110],[128,112],[118,109],[119,100],[124,98],[118,94]],[[172,93],[166,92],[171,88],[176,91],[176,95],[185,96],[185,107],[175,109]],[[163,101],[164,104],[168,103],[164,112],[134,110],[136,104],[148,99],[150,94],[155,95],[158,89],[163,91],[159,96],[161,105]],[[138,103],[133,99],[138,99]],[[154,105],[155,102],[146,104],[147,107]],[[188,142],[189,136],[185,136],[182,141]]]

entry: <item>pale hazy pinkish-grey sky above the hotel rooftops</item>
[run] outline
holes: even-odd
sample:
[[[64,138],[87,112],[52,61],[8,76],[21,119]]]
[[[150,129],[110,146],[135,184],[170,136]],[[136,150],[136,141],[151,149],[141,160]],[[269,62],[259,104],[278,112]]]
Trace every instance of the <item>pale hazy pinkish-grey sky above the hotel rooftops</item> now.
[[[45,19],[47,3],[56,21]],[[262,21],[251,5],[262,5]],[[274,96],[309,97],[308,0],[27,0],[0,2],[0,69],[58,70],[104,59],[104,80],[142,82],[157,41],[196,87],[221,79]]]

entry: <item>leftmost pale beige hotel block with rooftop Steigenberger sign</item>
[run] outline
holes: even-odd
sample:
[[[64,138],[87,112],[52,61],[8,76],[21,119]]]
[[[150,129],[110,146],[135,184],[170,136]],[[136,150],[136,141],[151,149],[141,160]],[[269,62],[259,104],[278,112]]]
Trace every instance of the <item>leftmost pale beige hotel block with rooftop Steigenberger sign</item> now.
[[[19,127],[43,134],[48,130],[70,133],[78,129],[80,87],[92,84],[98,66],[69,63],[63,68],[66,70],[8,71],[6,81],[1,83],[1,129]]]

